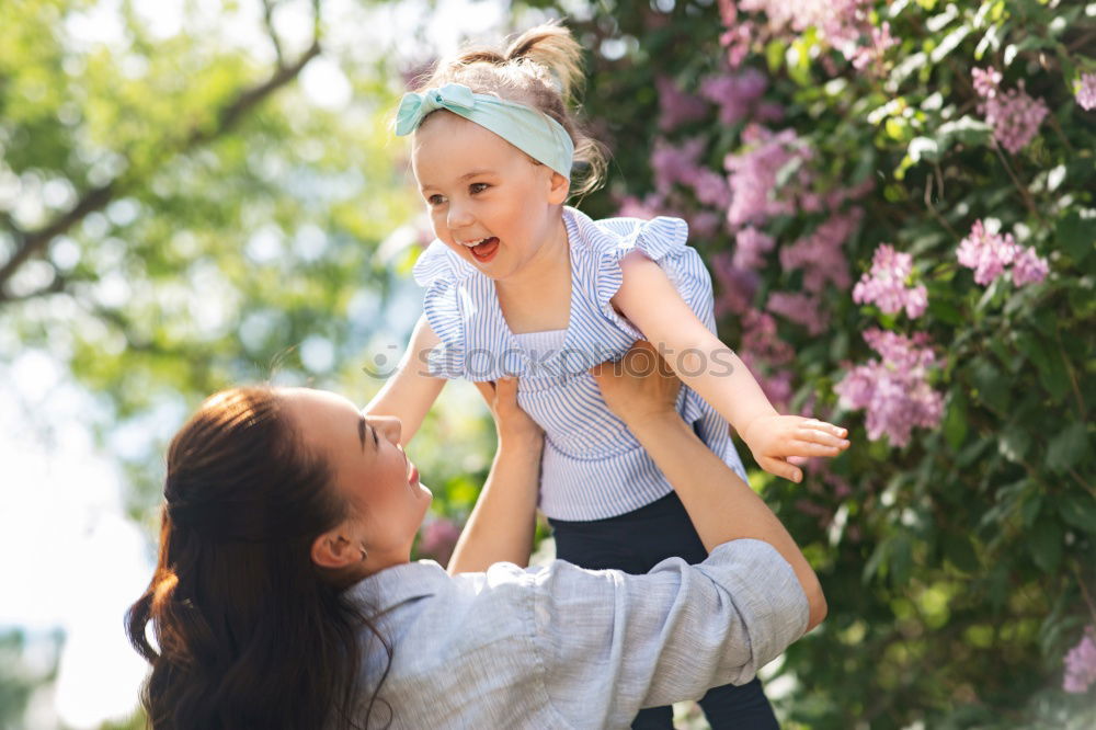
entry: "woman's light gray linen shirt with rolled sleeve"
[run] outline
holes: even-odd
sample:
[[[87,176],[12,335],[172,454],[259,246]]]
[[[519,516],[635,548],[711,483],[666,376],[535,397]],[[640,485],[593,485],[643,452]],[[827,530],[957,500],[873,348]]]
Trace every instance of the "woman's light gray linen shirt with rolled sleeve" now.
[[[642,707],[744,684],[807,630],[808,603],[767,543],[646,575],[498,563],[449,577],[433,561],[372,575],[351,595],[393,649],[379,697],[392,728],[627,728]],[[363,629],[362,706],[387,664]],[[377,703],[370,727],[389,712]]]

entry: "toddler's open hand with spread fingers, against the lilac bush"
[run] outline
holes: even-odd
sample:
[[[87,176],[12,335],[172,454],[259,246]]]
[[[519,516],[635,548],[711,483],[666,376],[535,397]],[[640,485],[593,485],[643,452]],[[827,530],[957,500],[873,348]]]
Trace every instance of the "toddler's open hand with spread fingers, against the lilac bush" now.
[[[845,429],[818,419],[762,415],[741,435],[762,469],[799,482],[803,472],[796,465],[814,456],[836,456],[848,448],[847,434]]]

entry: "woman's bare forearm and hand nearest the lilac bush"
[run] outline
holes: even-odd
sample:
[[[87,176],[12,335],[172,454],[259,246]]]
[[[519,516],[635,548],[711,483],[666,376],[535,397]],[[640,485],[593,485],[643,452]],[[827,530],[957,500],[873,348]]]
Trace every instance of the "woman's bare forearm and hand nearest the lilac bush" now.
[[[598,365],[593,375],[609,409],[677,492],[709,552],[722,543],[752,538],[768,543],[788,561],[807,595],[810,630],[826,613],[818,577],[765,502],[682,421],[674,410],[677,378],[667,368],[652,367],[664,362],[651,343],[637,342],[620,363]],[[817,427],[803,427],[799,438],[811,456],[833,456],[844,443]]]

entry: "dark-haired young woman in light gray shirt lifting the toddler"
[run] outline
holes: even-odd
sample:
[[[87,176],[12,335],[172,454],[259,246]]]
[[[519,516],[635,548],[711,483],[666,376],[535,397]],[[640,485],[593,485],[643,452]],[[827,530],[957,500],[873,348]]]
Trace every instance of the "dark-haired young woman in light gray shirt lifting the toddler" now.
[[[431,494],[397,420],[308,389],[209,398],[171,444],[159,561],[128,617],[152,727],[618,728],[749,682],[822,620],[814,573],[682,420],[676,378],[594,376],[677,490],[704,562],[521,568],[543,434],[513,380],[480,384],[500,448],[449,574],[410,561]],[[802,437],[819,455],[840,441]]]

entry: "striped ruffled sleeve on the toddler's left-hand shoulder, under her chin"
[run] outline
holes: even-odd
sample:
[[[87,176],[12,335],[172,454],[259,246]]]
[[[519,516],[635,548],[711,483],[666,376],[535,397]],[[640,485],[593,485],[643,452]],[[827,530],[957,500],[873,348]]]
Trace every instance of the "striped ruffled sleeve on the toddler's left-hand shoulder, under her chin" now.
[[[414,281],[426,288],[422,308],[441,343],[426,357],[430,374],[456,380],[465,370],[465,326],[460,281],[464,272],[456,256],[442,241],[434,241],[420,254],[412,269]]]

